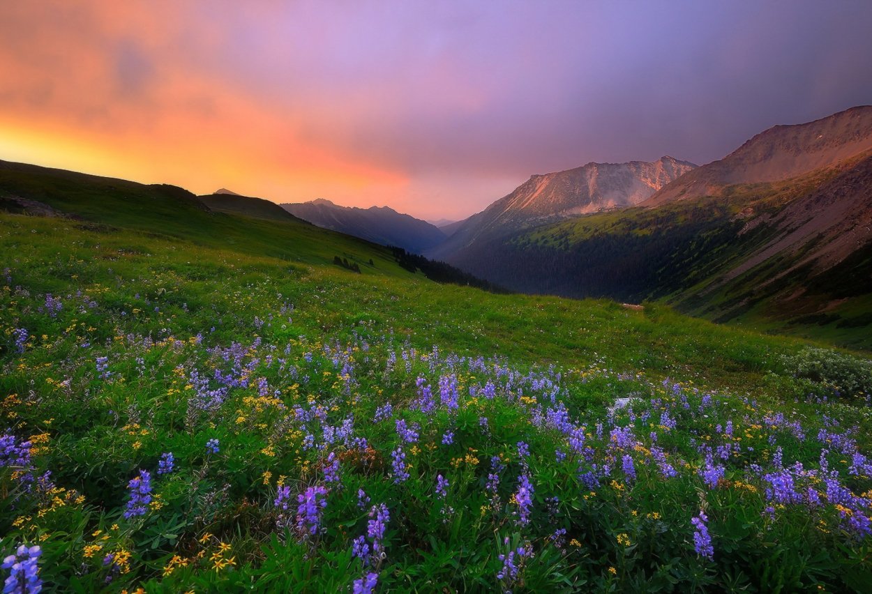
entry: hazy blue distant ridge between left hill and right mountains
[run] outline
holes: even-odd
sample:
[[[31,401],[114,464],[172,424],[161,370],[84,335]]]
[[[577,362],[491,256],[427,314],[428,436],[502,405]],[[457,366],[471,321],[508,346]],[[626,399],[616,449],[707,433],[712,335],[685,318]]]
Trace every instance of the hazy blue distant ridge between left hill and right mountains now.
[[[339,206],[325,199],[280,206],[313,225],[412,253],[423,253],[446,240],[446,234],[436,226],[389,206]]]

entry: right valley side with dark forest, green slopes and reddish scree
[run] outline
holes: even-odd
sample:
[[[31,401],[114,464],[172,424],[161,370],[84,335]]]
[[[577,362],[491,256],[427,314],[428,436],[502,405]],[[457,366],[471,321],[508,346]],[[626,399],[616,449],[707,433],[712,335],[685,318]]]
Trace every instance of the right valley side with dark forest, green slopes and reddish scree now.
[[[774,126],[637,206],[522,227],[521,197],[535,185],[473,215],[430,254],[529,293],[658,299],[717,321],[782,332],[814,324],[835,337],[872,324],[870,106]],[[499,213],[496,223],[485,213]]]

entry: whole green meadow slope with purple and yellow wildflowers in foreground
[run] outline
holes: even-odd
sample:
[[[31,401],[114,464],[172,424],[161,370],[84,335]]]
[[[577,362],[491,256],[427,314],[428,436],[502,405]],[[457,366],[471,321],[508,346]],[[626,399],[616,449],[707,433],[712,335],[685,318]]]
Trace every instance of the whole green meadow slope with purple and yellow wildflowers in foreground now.
[[[47,589],[872,580],[868,362],[37,177],[0,179],[81,219],[0,213],[0,556]]]

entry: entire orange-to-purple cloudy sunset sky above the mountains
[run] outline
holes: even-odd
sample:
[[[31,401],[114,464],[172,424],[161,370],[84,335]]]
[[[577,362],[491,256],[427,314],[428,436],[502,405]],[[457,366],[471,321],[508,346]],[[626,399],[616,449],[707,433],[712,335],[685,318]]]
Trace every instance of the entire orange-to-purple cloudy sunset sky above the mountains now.
[[[872,104],[872,2],[0,3],[0,159],[461,219]]]

